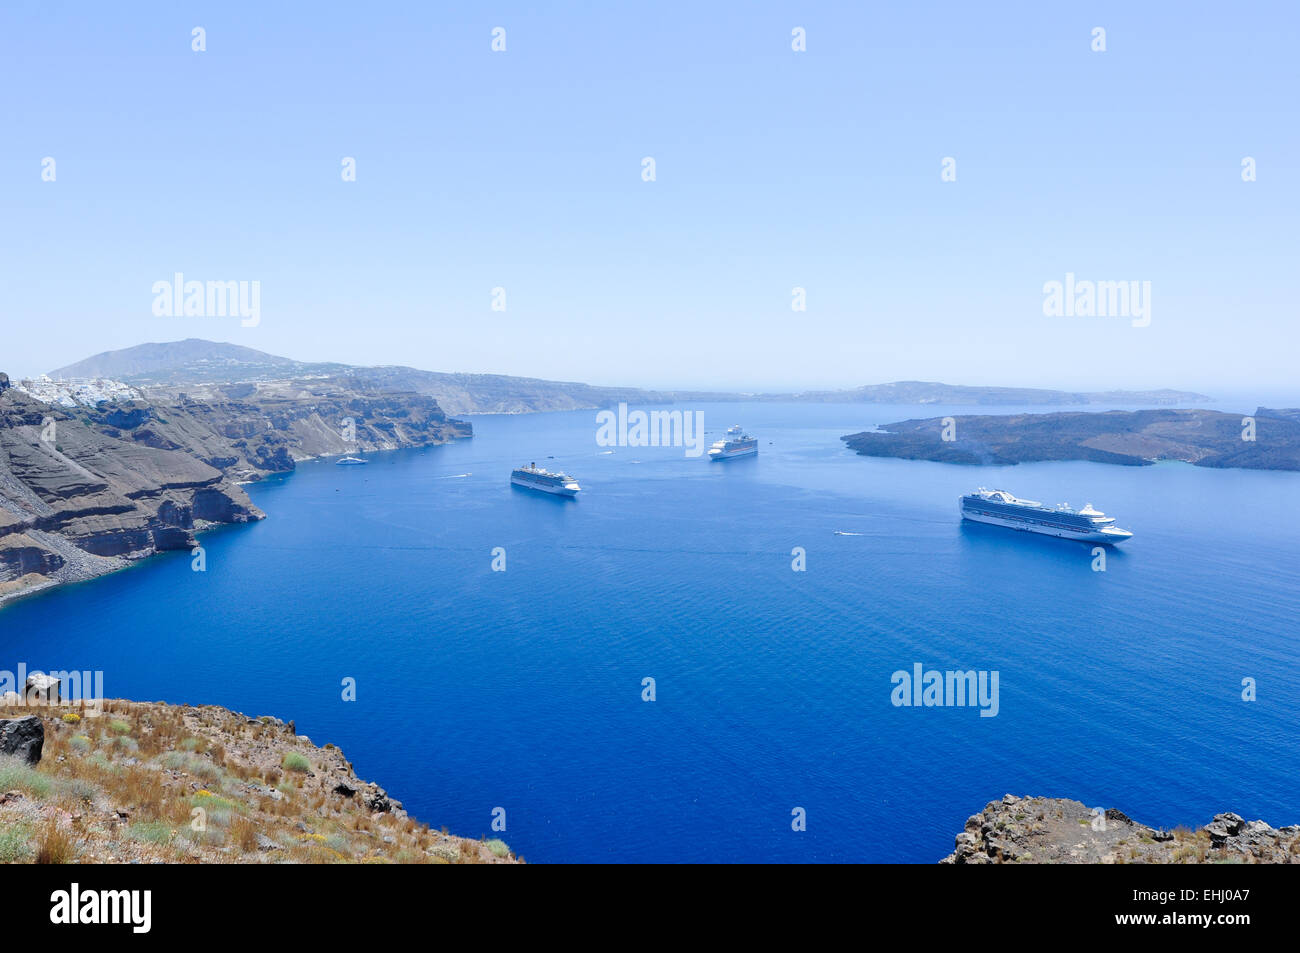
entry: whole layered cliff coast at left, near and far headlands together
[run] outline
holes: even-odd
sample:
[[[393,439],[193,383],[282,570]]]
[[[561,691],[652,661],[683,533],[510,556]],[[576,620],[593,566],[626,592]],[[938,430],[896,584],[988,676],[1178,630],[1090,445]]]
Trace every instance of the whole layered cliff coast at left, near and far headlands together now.
[[[263,519],[238,484],[299,460],[471,434],[429,397],[330,380],[202,397],[56,407],[0,380],[0,602]]]

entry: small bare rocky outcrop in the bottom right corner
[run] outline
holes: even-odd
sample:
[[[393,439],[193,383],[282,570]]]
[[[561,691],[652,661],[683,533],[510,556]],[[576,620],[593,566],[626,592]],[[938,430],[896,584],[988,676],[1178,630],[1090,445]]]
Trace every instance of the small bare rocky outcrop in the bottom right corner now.
[[[1165,831],[1114,809],[1006,794],[966,820],[940,863],[1300,863],[1300,826],[1216,814],[1196,831]]]

